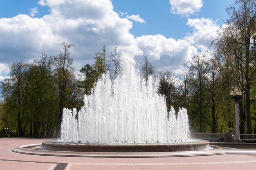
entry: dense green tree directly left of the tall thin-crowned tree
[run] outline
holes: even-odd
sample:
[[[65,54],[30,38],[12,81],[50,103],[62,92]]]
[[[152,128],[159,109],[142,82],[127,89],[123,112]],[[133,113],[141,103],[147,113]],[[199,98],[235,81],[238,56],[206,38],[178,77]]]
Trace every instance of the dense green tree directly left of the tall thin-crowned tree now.
[[[45,137],[51,136],[54,127],[56,106],[51,103],[57,98],[54,92],[54,82],[52,81],[51,59],[42,53],[40,60],[34,60],[29,64],[30,86],[28,88],[28,110],[30,112],[30,136]],[[48,128],[47,128],[48,127]],[[50,132],[47,132],[47,131]],[[48,136],[48,137],[49,137]]]

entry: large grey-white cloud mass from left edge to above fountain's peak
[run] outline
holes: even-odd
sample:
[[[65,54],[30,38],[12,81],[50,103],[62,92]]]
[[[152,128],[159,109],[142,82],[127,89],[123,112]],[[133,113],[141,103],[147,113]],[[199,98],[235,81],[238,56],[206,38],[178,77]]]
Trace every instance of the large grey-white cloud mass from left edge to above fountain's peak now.
[[[120,18],[110,0],[41,0],[38,3],[49,6],[49,15],[0,18],[0,62],[32,60],[43,51],[56,55],[63,41],[76,44],[72,49],[75,64],[85,65],[93,60],[94,52],[100,51],[102,45],[108,49],[118,46],[119,50],[135,55],[143,53],[129,32],[132,22]]]

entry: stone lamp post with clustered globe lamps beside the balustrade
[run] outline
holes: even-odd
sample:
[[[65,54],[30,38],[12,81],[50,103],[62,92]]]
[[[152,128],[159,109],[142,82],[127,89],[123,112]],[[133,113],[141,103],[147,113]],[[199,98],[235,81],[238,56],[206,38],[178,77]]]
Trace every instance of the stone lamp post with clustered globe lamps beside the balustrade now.
[[[238,115],[238,104],[239,104],[239,99],[242,98],[243,93],[238,91],[238,88],[236,87],[234,89],[234,92],[230,92],[231,97],[235,100],[235,110],[236,110],[236,140],[241,140],[240,139],[240,131],[239,131],[239,115]]]

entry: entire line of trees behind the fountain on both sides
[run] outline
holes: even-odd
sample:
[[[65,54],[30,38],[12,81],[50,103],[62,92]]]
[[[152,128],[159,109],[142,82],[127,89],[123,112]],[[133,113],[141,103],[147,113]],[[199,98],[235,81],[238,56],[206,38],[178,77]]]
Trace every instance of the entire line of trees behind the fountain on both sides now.
[[[191,130],[226,132],[235,128],[234,103],[229,92],[243,92],[239,102],[240,133],[256,133],[256,4],[255,0],[236,0],[227,8],[229,19],[213,40],[214,53],[198,52],[186,63],[188,71],[176,79],[173,72],[158,73],[159,93],[167,108],[188,110]],[[106,46],[94,54],[94,64],[81,68],[77,80],[70,50],[61,43],[58,55],[31,63],[14,62],[9,77],[0,82],[4,102],[0,103],[0,128],[17,129],[20,137],[54,137],[60,134],[63,107],[79,108],[83,94],[90,94],[102,73],[120,73],[117,47],[106,56]],[[144,56],[142,77],[155,74]]]

